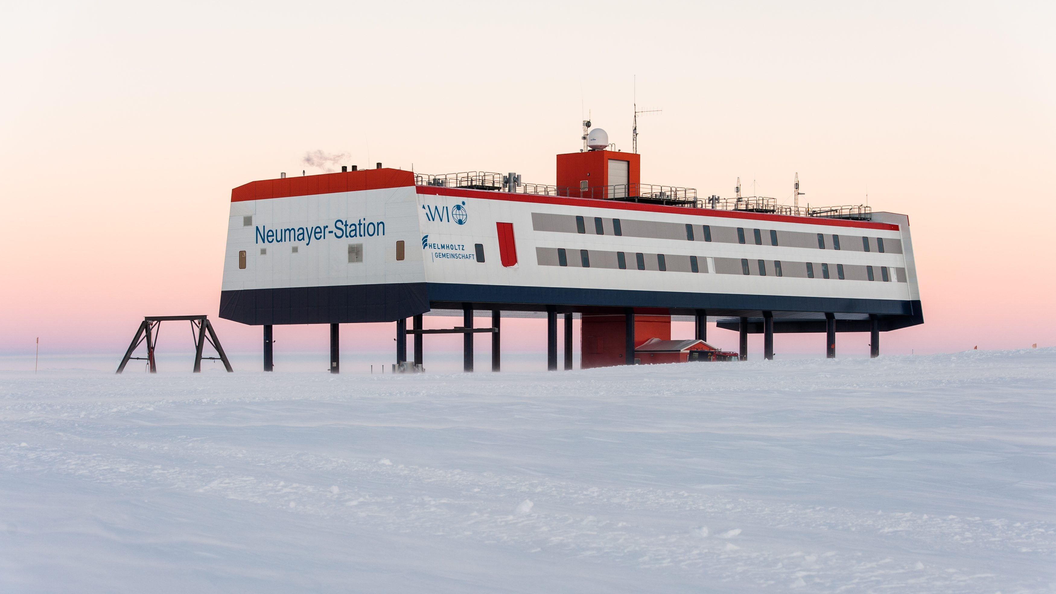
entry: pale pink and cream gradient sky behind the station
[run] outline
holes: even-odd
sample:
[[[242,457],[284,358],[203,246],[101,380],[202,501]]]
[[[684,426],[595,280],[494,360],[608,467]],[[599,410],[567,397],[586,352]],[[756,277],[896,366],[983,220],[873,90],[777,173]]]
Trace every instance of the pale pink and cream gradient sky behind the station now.
[[[787,201],[798,172],[811,204],[868,192],[909,215],[926,323],[885,334],[884,352],[1056,344],[1052,2],[4,12],[0,354],[32,353],[37,336],[42,352],[119,352],[143,315],[215,316],[231,188],[321,172],[308,151],[553,183],[584,110],[629,150],[635,75],[639,107],[663,109],[640,122],[643,182],[725,197],[740,177]],[[260,328],[216,327],[228,350],[260,349]],[[506,348],[545,349],[544,328],[511,321]],[[326,348],[322,327],[279,332],[286,348]],[[345,336],[393,348],[393,324]],[[867,341],[842,335],[841,352]],[[823,344],[777,337],[778,352]]]

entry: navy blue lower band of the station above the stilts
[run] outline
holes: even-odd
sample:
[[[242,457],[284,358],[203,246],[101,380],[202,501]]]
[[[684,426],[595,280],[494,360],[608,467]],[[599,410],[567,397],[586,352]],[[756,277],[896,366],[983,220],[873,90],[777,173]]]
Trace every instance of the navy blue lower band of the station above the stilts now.
[[[774,312],[775,332],[818,331],[814,320],[785,320],[780,313],[828,312],[861,317],[842,322],[846,331],[852,332],[857,331],[855,324],[861,326],[860,321],[868,324],[865,320],[869,316],[880,320],[883,331],[924,321],[919,300],[423,282],[224,291],[220,317],[248,324],[378,322],[409,318],[431,309],[461,309],[465,303],[482,310],[525,312],[557,305],[561,312],[637,308],[675,315],[706,310],[709,315],[757,317],[766,311]]]

